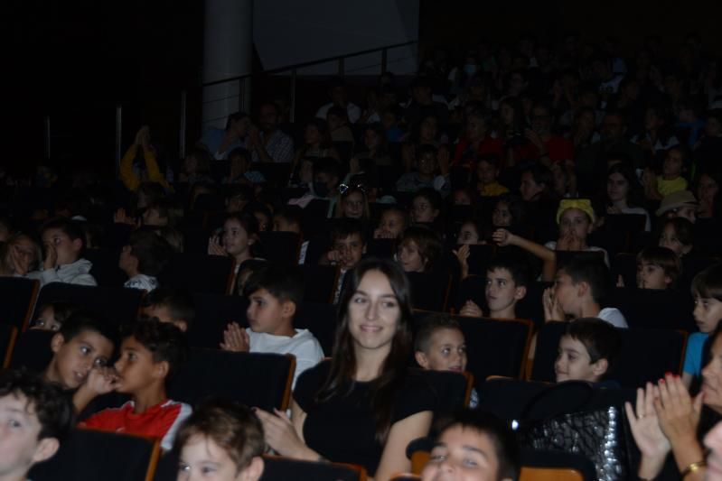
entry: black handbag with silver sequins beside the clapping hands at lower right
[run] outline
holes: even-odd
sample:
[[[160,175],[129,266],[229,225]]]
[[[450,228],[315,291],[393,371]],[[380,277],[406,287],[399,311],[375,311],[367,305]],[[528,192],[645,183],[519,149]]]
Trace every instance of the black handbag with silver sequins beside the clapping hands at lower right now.
[[[579,454],[594,463],[596,479],[626,479],[631,470],[624,410],[587,408],[594,393],[584,382],[560,383],[538,393],[521,415],[520,446]]]

